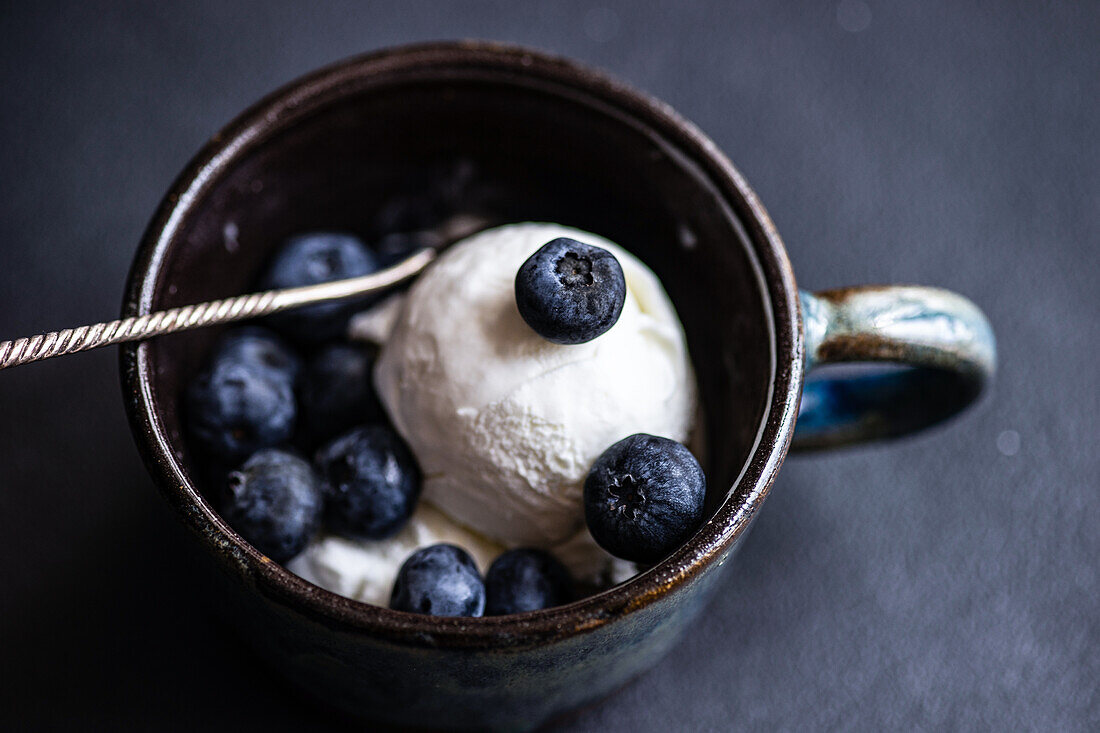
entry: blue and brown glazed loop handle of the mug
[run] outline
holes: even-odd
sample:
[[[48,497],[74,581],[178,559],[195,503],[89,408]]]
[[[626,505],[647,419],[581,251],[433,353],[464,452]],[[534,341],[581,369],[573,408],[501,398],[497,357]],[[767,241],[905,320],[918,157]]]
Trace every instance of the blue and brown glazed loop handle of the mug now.
[[[901,369],[807,379],[792,450],[928,427],[972,403],[997,369],[989,320],[961,295],[868,285],[800,296],[807,374],[845,362],[892,362]]]

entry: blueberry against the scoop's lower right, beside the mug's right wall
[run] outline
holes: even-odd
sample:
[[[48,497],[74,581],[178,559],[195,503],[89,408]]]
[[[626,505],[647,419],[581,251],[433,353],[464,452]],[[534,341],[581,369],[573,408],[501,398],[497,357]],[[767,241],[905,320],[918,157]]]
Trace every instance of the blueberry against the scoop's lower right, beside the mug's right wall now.
[[[584,519],[605,550],[657,562],[703,521],[706,478],[675,440],[639,433],[596,459],[584,480]]]

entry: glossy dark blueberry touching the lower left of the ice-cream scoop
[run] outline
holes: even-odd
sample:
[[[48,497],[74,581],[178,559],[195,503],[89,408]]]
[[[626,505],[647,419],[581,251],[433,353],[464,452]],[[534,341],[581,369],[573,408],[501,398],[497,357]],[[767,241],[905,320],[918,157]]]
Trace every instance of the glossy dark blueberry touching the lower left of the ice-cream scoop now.
[[[317,452],[329,529],[356,539],[388,537],[420,497],[420,469],[405,441],[384,425],[355,428]]]

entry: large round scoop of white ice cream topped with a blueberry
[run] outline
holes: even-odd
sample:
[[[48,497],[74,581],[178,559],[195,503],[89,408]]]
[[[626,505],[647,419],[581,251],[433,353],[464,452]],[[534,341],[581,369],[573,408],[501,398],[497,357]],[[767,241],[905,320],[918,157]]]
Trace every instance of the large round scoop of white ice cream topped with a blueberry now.
[[[516,306],[519,266],[559,237],[609,250],[626,277],[618,321],[586,343],[547,341]],[[606,239],[549,223],[447,250],[397,310],[375,384],[420,463],[424,496],[509,546],[574,536],[600,453],[635,433],[686,440],[695,405],[683,330],[657,276]]]

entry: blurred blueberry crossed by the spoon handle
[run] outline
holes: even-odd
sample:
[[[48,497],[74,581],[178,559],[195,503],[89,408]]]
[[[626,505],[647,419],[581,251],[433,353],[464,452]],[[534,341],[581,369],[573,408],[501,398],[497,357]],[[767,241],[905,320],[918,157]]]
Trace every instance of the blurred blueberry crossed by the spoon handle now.
[[[378,258],[356,237],[332,232],[299,234],[288,239],[267,264],[260,287],[314,285],[370,275],[378,269]],[[373,299],[320,303],[277,314],[270,322],[293,339],[319,343],[342,335],[351,315]]]

